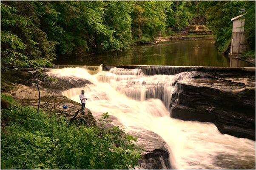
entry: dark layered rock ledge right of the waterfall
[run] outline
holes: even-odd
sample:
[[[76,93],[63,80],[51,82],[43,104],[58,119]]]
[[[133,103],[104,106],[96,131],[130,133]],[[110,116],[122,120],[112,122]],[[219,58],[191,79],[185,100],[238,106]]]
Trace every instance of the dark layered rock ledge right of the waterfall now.
[[[255,140],[255,73],[193,72],[176,83],[171,117],[214,123],[223,134]]]

